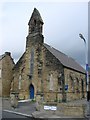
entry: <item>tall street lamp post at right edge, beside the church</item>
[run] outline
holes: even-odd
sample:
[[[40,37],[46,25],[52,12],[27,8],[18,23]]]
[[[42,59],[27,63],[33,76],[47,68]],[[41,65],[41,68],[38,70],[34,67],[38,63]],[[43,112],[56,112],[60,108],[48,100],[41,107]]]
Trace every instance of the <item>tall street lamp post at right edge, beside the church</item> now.
[[[86,85],[87,85],[87,107],[88,107],[88,111],[87,111],[87,115],[90,116],[90,91],[89,91],[89,73],[88,73],[88,49],[87,49],[87,43],[85,38],[83,37],[83,35],[80,33],[79,37],[81,39],[83,39],[84,43],[85,43],[85,55],[86,55]]]

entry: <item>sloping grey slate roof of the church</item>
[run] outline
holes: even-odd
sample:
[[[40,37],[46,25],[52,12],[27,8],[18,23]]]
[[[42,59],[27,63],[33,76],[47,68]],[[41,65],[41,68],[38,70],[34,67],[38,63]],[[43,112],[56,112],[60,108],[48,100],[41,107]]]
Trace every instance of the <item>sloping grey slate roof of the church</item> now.
[[[85,73],[85,69],[73,58],[65,55],[53,47],[50,47],[47,44],[44,44],[44,46],[62,63],[63,66]]]

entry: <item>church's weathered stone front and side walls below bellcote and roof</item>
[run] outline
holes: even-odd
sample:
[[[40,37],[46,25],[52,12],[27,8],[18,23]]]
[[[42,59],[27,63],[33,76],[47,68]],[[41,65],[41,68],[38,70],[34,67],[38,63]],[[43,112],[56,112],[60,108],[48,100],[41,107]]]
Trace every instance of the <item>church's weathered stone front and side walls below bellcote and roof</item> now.
[[[61,102],[86,97],[85,75],[64,68],[41,40],[35,42],[36,38],[29,39],[25,53],[13,69],[12,91],[19,93],[19,99],[30,98],[31,84],[37,101]],[[65,85],[68,85],[68,91],[65,90]]]

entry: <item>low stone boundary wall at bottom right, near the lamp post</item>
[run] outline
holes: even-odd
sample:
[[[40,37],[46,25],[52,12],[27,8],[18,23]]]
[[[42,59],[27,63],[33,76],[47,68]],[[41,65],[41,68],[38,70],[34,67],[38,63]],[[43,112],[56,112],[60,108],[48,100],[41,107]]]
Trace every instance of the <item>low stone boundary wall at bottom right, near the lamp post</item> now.
[[[58,109],[56,111],[57,115],[61,114],[63,116],[77,117],[77,118],[85,117],[85,110],[86,110],[85,104],[60,103],[57,106],[58,106]]]

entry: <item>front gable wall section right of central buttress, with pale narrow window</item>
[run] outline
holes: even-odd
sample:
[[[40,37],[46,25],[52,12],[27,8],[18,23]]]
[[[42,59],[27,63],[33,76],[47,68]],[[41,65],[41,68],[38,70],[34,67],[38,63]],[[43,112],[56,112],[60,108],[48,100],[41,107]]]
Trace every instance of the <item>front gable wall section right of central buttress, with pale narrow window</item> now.
[[[44,58],[44,97],[45,101],[58,101],[58,91],[60,85],[58,78],[60,73],[63,73],[63,66],[58,59],[45,48]],[[61,98],[62,99],[62,98]]]

